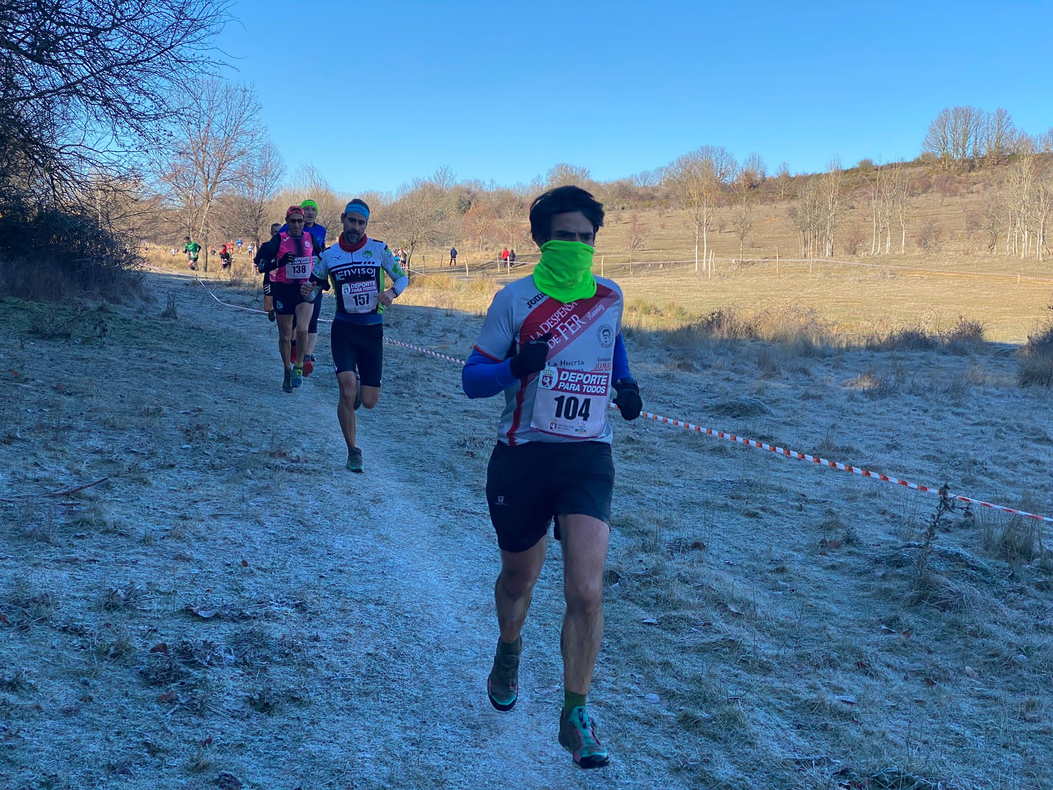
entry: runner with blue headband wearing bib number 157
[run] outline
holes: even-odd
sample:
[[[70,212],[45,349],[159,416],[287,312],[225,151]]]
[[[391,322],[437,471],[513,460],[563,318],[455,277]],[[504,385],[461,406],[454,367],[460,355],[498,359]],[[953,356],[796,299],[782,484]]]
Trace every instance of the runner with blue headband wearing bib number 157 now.
[[[365,235],[370,206],[355,198],[340,215],[340,241],[321,255],[311,277],[303,283],[304,296],[314,285],[336,290],[336,318],[333,321],[333,362],[340,387],[336,414],[347,445],[347,469],[362,471],[362,451],[356,443],[355,410],[372,409],[380,398],[383,372],[383,310],[410,284],[388,244]],[[384,290],[384,275],[392,287]],[[321,298],[319,294],[316,298]]]

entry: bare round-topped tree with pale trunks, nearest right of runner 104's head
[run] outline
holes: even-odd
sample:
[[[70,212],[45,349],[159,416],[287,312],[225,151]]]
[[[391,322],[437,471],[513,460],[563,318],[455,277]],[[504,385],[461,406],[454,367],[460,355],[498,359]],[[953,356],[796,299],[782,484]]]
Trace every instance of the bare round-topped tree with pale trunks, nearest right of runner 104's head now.
[[[670,192],[687,215],[688,224],[695,235],[696,272],[698,243],[702,243],[702,260],[706,260],[717,204],[734,171],[735,160],[719,145],[703,145],[684,154],[665,170]]]

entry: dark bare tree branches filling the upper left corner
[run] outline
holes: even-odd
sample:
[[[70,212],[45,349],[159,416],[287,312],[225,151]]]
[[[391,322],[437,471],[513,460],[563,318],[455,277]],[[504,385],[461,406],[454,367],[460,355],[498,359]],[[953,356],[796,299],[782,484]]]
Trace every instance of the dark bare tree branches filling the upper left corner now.
[[[67,198],[88,170],[120,170],[157,140],[171,95],[216,67],[227,0],[0,0],[0,180],[23,151]]]

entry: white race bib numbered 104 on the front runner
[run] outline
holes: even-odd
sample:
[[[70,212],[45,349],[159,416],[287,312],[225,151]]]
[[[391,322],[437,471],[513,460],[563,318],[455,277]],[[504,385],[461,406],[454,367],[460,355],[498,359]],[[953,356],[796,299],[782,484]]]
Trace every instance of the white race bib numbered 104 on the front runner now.
[[[593,439],[603,432],[610,389],[610,371],[576,371],[550,361],[538,374],[531,428]]]

